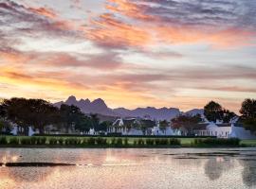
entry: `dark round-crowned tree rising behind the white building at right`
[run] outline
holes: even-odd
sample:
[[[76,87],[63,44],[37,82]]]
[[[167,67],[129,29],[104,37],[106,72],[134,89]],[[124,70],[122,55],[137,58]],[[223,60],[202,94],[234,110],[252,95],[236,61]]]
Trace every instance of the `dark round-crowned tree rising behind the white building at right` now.
[[[210,101],[204,107],[204,114],[209,121],[216,122],[216,120],[221,120],[223,117],[223,109],[220,104]]]

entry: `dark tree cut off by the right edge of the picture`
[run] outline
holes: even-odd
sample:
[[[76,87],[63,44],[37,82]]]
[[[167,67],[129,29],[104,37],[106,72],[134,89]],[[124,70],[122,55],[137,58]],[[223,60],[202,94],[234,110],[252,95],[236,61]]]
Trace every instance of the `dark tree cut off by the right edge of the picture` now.
[[[256,131],[256,100],[245,99],[240,110],[242,122],[246,129]]]

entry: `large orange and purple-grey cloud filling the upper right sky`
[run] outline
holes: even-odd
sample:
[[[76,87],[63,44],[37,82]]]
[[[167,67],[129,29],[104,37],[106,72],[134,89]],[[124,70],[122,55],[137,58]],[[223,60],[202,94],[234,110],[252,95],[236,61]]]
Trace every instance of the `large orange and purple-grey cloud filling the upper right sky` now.
[[[250,2],[250,3],[248,3]],[[230,0],[108,0],[92,19],[89,39],[103,47],[145,48],[157,43],[255,44],[255,3]]]

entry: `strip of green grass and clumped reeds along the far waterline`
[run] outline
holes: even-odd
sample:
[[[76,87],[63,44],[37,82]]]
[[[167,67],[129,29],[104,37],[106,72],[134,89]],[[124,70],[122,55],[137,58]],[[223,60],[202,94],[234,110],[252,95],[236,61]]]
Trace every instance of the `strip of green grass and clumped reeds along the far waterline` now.
[[[256,140],[216,138],[129,138],[0,136],[0,147],[221,147],[256,146]]]

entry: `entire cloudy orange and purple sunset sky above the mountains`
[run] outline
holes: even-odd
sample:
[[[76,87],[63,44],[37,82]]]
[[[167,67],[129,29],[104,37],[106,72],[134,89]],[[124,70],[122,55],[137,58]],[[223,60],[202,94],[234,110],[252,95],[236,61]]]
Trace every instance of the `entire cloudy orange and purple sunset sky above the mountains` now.
[[[255,15],[255,0],[0,0],[0,97],[239,112]]]

